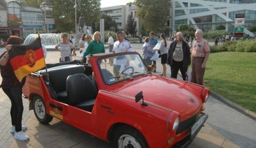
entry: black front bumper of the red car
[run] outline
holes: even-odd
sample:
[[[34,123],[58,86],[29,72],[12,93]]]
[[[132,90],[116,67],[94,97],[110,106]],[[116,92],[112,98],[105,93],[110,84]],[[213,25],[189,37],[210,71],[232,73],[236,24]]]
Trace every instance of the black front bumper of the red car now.
[[[172,148],[186,148],[195,139],[196,135],[199,133],[200,129],[203,127],[205,121],[207,120],[208,115],[206,113],[202,113],[202,115],[198,118],[198,120],[201,117],[204,117],[204,121],[200,125],[200,127],[194,132],[194,134],[192,136],[191,136],[191,134],[188,135],[186,138],[184,138],[183,140],[181,140],[178,143],[176,143],[175,145],[173,145]],[[195,123],[197,123],[197,121]]]

